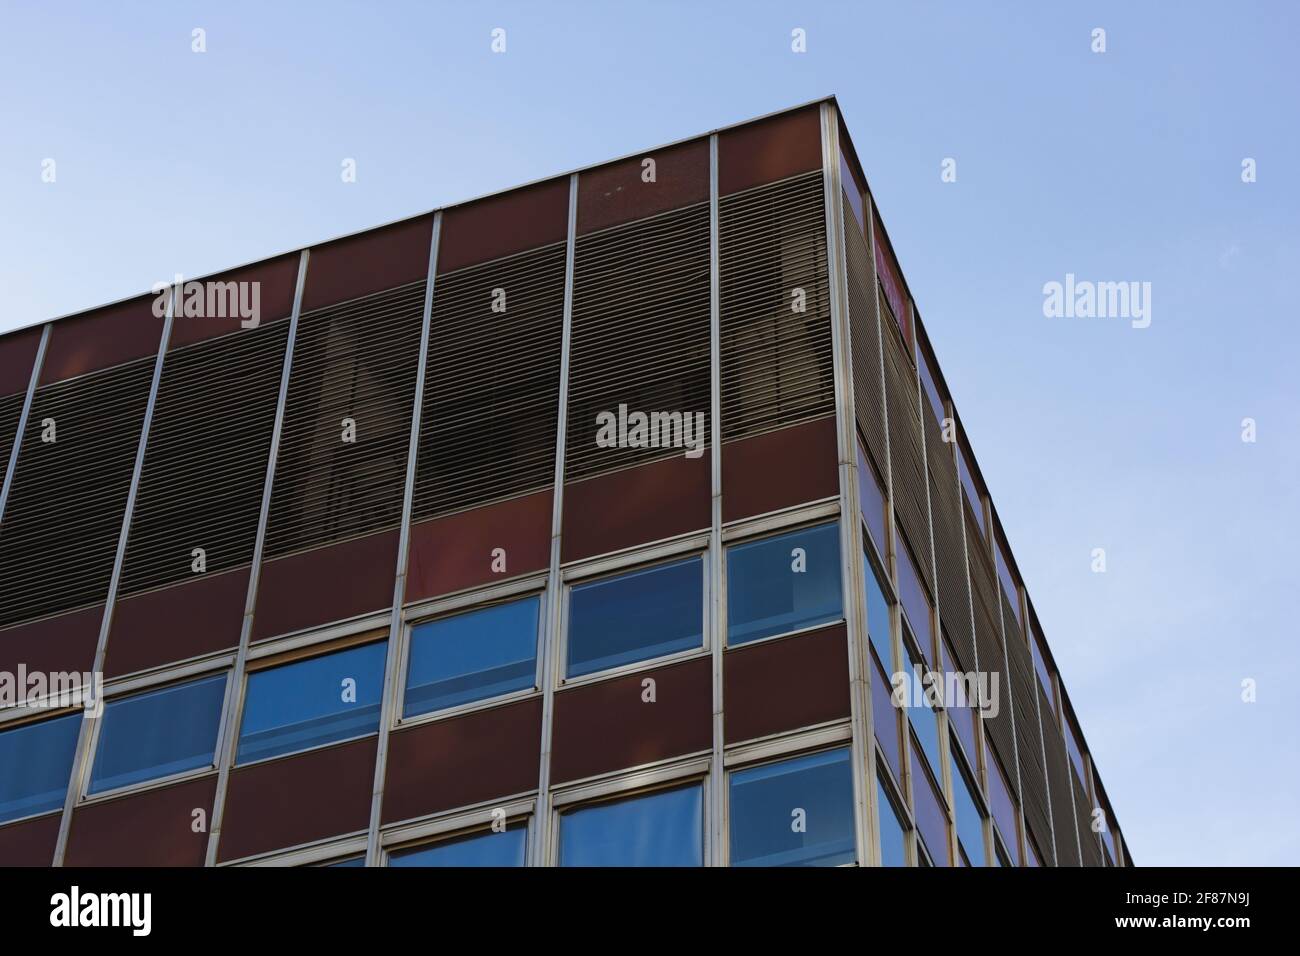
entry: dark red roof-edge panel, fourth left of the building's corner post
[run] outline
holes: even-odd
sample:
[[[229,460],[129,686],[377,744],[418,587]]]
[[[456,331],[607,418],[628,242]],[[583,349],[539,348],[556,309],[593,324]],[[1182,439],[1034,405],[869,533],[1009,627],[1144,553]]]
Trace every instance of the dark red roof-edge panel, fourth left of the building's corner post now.
[[[429,274],[433,216],[313,246],[307,261],[303,311],[333,306]]]

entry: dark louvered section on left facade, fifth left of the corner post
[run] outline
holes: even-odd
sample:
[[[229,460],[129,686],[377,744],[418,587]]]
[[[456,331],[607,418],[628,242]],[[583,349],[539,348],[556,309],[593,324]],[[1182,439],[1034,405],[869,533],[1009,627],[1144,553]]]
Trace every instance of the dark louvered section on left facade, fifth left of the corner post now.
[[[121,593],[251,561],[287,338],[278,321],[168,352]]]

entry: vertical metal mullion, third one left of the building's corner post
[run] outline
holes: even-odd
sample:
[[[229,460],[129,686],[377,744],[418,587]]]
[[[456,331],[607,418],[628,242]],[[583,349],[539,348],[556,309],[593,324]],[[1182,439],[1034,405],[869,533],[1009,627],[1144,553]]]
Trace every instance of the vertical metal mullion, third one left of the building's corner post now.
[[[389,619],[389,646],[384,667],[384,693],[380,697],[380,739],[374,752],[374,786],[370,790],[370,825],[365,839],[365,865],[380,865],[380,819],[384,810],[384,780],[389,766],[389,734],[395,715],[400,713],[402,684],[398,669],[402,662],[402,641],[406,620],[402,605],[406,601],[406,579],[411,546],[411,510],[415,503],[415,471],[420,451],[420,419],[424,411],[425,376],[429,362],[429,325],[433,316],[433,289],[438,272],[438,241],[442,234],[442,212],[433,215],[433,233],[429,239],[429,273],[424,285],[424,315],[420,320],[420,358],[415,375],[415,401],[411,410],[411,438],[407,445],[406,485],[402,494],[402,525],[398,533],[396,572],[393,580],[393,615]]]

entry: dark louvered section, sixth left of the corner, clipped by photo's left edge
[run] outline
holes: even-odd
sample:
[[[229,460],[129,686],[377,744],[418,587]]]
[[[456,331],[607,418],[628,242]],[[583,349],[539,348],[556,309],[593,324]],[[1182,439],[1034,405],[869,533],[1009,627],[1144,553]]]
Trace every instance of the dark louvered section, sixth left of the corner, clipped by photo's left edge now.
[[[0,525],[0,624],[103,601],[117,555],[155,359],[32,398]],[[55,441],[42,441],[48,419]]]

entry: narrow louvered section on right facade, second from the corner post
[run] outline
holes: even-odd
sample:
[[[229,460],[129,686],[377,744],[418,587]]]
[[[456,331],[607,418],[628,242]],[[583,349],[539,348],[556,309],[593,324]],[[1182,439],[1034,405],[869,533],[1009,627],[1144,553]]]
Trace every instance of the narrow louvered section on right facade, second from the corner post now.
[[[894,507],[907,541],[916,551],[918,571],[935,593],[931,572],[930,516],[926,510],[926,468],[922,459],[920,415],[915,367],[892,332],[885,341],[885,407],[889,416],[889,464]]]

